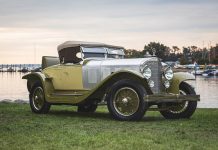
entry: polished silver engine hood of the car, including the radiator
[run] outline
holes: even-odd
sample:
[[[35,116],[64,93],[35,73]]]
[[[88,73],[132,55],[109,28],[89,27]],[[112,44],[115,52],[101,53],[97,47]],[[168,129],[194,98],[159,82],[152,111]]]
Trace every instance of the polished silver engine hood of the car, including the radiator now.
[[[133,71],[142,76],[141,68],[149,67],[152,71],[152,76],[149,80],[153,80],[155,85],[152,87],[153,93],[161,91],[161,63],[157,57],[149,58],[134,58],[134,59],[89,59],[84,60],[82,66],[83,72],[83,87],[92,89],[106,77],[120,70]],[[142,76],[143,77],[143,76]],[[145,78],[144,78],[145,79]],[[145,79],[146,80],[146,79]]]

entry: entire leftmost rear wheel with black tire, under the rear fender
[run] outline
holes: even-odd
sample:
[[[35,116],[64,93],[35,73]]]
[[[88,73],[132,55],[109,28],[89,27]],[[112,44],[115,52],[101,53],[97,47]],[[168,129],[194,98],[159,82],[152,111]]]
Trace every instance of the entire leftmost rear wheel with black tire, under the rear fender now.
[[[38,94],[36,92],[38,92]],[[36,82],[33,85],[32,89],[30,90],[29,97],[30,97],[30,108],[32,112],[37,114],[46,114],[49,112],[51,105],[45,99],[44,89],[40,82]]]

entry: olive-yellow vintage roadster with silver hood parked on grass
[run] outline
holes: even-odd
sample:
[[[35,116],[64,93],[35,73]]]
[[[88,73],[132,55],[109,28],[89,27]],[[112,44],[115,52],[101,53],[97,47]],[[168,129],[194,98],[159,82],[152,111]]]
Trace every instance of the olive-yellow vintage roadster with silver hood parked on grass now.
[[[59,45],[58,54],[43,56],[41,71],[23,76],[34,113],[48,113],[52,104],[79,112],[105,104],[118,120],[140,120],[149,109],[179,119],[191,117],[200,100],[186,82],[193,75],[173,73],[153,55],[125,59],[123,47],[81,41]]]

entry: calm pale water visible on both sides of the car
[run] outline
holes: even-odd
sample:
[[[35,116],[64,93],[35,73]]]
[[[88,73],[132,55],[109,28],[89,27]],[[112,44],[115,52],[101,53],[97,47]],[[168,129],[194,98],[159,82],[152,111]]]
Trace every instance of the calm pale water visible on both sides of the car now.
[[[0,101],[25,100],[28,101],[29,93],[26,80],[22,80],[24,73],[0,73]],[[195,90],[200,94],[199,108],[218,108],[218,78],[205,78],[197,76]]]

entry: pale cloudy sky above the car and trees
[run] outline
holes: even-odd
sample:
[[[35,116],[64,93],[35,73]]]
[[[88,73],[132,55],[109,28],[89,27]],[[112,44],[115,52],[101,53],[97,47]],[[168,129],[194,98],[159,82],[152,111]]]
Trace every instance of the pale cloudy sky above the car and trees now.
[[[217,0],[0,0],[0,64],[41,63],[65,41],[143,50],[218,43]]]

